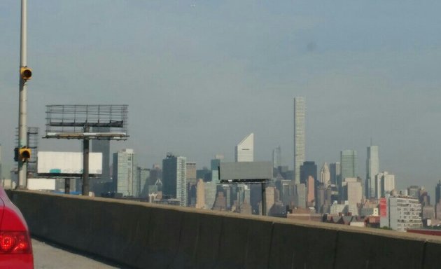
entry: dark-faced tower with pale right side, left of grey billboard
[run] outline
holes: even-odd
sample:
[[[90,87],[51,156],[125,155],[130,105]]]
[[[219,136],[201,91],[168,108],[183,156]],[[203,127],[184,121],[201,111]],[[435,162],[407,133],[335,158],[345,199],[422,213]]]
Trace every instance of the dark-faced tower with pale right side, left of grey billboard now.
[[[162,193],[179,200],[179,205],[187,205],[187,158],[167,153],[162,160]]]

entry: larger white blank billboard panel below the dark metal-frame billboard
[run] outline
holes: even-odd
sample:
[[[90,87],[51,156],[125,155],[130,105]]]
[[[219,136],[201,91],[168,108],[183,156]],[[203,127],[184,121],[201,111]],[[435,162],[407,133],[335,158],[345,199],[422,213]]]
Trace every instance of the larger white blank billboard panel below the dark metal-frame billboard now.
[[[82,152],[38,151],[38,174],[83,174]],[[89,174],[102,174],[102,153],[89,153]]]

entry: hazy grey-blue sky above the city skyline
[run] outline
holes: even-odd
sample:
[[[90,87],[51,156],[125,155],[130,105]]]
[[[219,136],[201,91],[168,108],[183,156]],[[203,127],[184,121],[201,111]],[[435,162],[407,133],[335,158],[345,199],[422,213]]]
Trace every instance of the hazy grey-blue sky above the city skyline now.
[[[379,146],[398,188],[441,179],[440,1],[28,1],[29,126],[46,104],[128,104],[139,165],[167,151],[209,165],[255,134],[255,160],[281,146],[293,167],[293,97],[307,160]],[[18,125],[20,1],[0,1],[2,161]],[[80,151],[40,140],[40,150]]]

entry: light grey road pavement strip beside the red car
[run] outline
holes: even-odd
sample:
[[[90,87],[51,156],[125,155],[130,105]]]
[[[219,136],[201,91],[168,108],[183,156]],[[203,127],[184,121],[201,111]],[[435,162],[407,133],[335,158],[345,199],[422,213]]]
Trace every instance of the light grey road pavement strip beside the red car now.
[[[32,238],[35,269],[113,269],[124,268],[99,258],[80,254],[63,247]]]

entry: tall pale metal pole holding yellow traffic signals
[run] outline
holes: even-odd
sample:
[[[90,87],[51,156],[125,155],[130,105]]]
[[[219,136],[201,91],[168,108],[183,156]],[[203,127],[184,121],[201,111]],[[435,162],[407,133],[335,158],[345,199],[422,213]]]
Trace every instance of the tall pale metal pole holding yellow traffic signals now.
[[[18,104],[18,148],[27,147],[27,78],[22,70],[27,67],[27,0],[22,0],[20,31],[20,92]],[[30,76],[29,76],[30,78]],[[27,164],[18,159],[18,188],[27,188]]]

